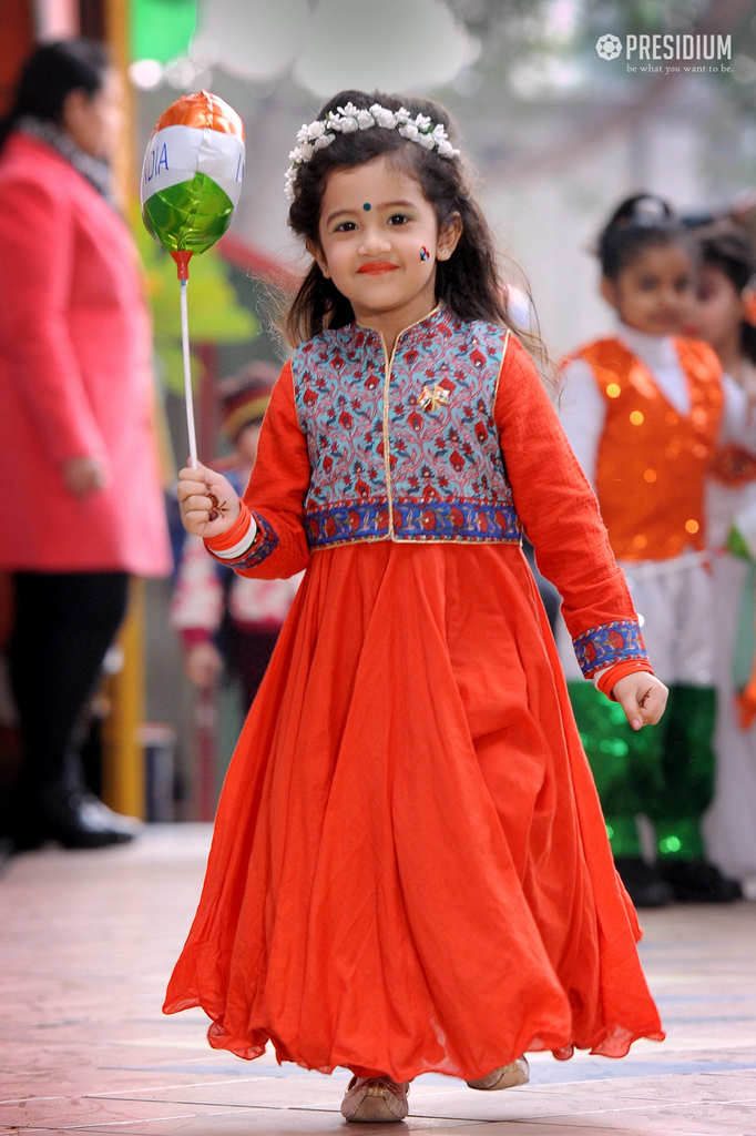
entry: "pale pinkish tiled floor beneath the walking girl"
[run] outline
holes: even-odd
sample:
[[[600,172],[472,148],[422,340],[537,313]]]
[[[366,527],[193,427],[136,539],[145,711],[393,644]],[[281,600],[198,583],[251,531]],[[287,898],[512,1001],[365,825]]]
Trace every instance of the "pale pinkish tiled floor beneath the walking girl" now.
[[[160,1001],[198,897],[209,832],[154,827],[103,852],[17,858],[0,879],[0,1130],[124,1136],[353,1136],[347,1074],[213,1052],[198,1011]],[[756,903],[644,912],[669,1030],[623,1061],[536,1054],[486,1095],[421,1077],[405,1125],[445,1136],[756,1136]]]

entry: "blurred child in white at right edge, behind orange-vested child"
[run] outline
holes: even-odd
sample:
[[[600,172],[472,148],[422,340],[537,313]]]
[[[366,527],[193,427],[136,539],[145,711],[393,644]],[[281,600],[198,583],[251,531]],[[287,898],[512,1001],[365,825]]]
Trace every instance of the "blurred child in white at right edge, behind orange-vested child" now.
[[[748,232],[723,219],[700,228],[700,275],[690,332],[709,343],[722,369],[745,392],[748,415],[756,403],[756,258]],[[744,700],[754,665],[756,567],[729,551],[733,520],[756,506],[756,461],[737,445],[722,446],[706,493],[712,550],[712,609],[716,634],[716,795],[705,824],[707,845],[720,867],[756,891],[756,726]],[[745,701],[745,704],[744,704]]]

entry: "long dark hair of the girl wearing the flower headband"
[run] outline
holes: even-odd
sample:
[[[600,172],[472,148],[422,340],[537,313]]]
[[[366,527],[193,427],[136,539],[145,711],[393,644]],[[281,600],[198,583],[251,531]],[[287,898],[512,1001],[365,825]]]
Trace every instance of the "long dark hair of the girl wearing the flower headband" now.
[[[434,125],[442,123],[452,141],[455,128],[448,112],[430,99],[385,94],[383,91],[341,91],[318,112],[322,119],[329,111],[352,102],[359,110],[375,102],[388,110],[405,107],[412,117],[427,115]],[[506,301],[506,290],[498,273],[494,239],[488,224],[471,194],[469,176],[460,158],[442,158],[417,142],[403,137],[397,130],[370,127],[352,134],[337,133],[330,145],[316,151],[301,166],[294,183],[294,201],[288,224],[297,236],[319,243],[319,222],[326,183],[335,169],[361,166],[373,158],[389,156],[409,175],[417,178],[422,194],[432,206],[439,231],[446,228],[457,212],[462,235],[448,260],[436,265],[436,296],[444,300],[460,319],[485,319],[513,326]],[[312,264],[285,317],[284,329],[293,345],[311,339],[326,327],[343,327],[352,323],[352,304]],[[541,358],[545,352],[538,336],[519,334]]]

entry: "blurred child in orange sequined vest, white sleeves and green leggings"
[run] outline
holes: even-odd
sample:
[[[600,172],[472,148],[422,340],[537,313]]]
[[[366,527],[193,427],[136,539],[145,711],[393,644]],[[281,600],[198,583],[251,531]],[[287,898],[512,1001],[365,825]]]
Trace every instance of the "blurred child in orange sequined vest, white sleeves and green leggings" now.
[[[598,254],[602,295],[620,323],[566,365],[562,421],[672,693],[664,725],[642,738],[593,687],[571,682],[570,693],[636,904],[722,902],[740,889],[706,860],[700,829],[714,784],[704,481],[717,440],[753,450],[756,432],[746,426],[744,392],[711,348],[677,337],[696,264],[669,206],[645,194],[624,201]],[[577,677],[562,657],[568,678]]]

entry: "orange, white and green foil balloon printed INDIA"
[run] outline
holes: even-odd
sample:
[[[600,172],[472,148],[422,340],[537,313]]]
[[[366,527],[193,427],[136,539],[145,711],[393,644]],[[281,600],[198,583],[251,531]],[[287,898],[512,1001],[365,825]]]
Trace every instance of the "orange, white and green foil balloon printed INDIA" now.
[[[148,143],[140,183],[146,228],[170,252],[204,252],[228,228],[243,176],[236,111],[208,91],[184,95]]]

